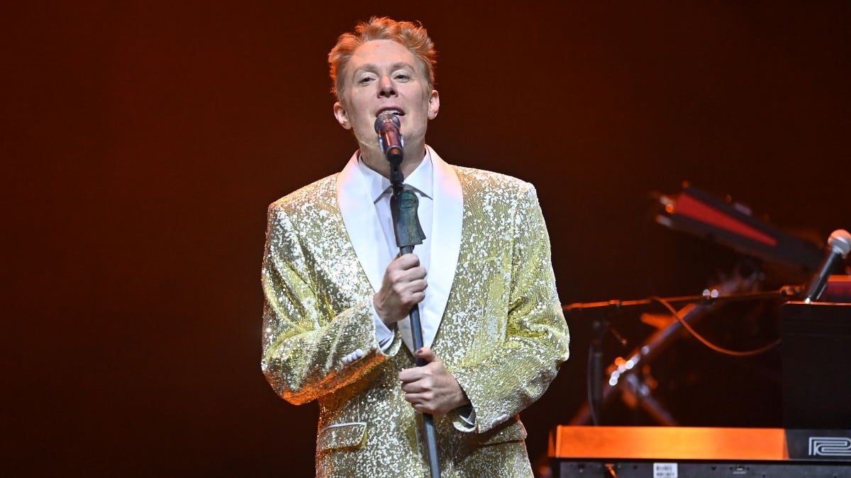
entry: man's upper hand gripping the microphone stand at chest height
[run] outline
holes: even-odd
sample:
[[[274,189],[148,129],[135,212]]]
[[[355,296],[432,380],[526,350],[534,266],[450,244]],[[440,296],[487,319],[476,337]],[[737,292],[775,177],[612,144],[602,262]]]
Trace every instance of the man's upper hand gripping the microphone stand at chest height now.
[[[373,296],[375,311],[389,327],[408,316],[415,304],[426,299],[426,269],[413,253],[393,259],[384,273],[381,290]]]

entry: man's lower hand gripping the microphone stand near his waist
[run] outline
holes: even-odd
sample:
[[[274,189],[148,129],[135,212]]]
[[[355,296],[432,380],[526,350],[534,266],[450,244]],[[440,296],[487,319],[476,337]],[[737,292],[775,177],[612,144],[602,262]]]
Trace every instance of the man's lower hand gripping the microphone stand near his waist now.
[[[420,413],[443,415],[470,403],[458,381],[443,367],[443,361],[429,347],[423,347],[414,356],[428,362],[424,367],[407,368],[399,373],[405,400]]]

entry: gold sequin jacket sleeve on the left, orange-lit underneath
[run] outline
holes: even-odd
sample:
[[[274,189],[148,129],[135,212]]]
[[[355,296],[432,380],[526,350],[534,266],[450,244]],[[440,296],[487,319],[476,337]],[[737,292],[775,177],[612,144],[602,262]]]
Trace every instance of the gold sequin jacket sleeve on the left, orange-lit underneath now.
[[[261,368],[277,394],[295,405],[364,378],[401,344],[394,333],[391,346],[381,351],[371,294],[334,310],[317,279],[317,258],[306,254],[300,232],[281,203],[270,206],[262,268]]]

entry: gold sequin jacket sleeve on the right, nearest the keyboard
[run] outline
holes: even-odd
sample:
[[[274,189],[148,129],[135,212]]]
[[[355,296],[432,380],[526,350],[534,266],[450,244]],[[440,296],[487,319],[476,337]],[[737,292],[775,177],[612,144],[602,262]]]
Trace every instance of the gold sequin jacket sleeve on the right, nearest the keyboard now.
[[[483,433],[513,418],[543,395],[568,358],[550,239],[532,185],[521,190],[512,229],[505,340],[481,360],[448,370],[475,412],[472,425],[455,414],[453,424],[461,431]]]

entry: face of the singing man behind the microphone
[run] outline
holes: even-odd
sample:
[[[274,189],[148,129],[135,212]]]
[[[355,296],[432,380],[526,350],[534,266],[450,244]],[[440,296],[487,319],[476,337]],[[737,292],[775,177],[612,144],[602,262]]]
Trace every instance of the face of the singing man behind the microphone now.
[[[426,72],[408,48],[392,40],[363,43],[343,74],[343,94],[334,104],[334,117],[343,128],[354,129],[366,150],[362,153],[378,151],[375,118],[387,110],[397,111],[406,145],[425,143],[426,124],[437,117],[440,100],[437,91],[428,89]]]

